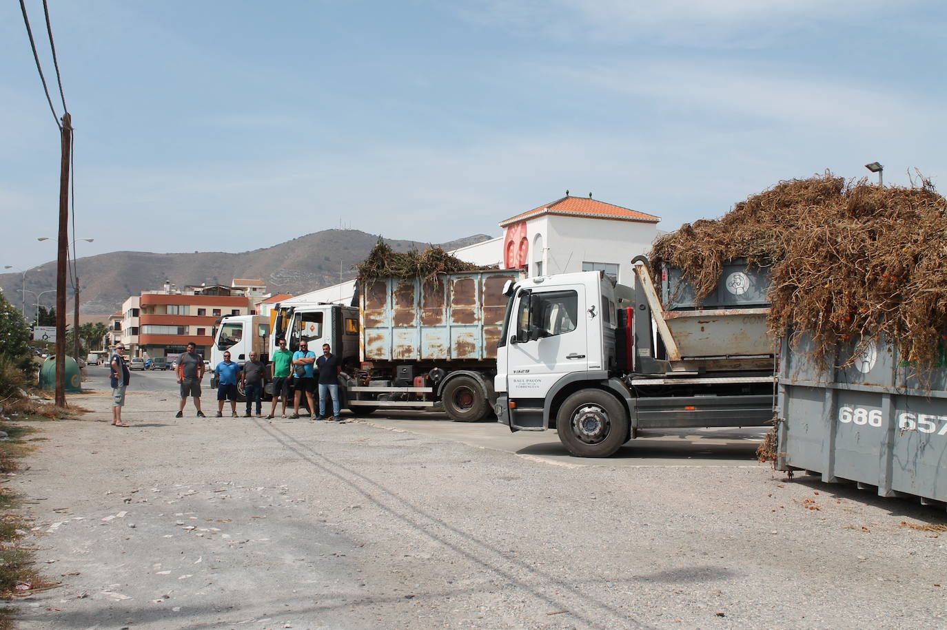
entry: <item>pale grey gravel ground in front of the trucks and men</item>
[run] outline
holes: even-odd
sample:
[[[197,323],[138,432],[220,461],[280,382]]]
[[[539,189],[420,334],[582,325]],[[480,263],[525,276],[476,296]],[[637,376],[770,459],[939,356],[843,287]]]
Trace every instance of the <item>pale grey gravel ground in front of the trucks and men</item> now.
[[[23,628],[942,627],[944,513],[769,467],[548,463],[343,424],[38,423]],[[207,401],[210,402],[209,399]],[[209,405],[208,405],[209,406]],[[469,427],[465,429],[470,429]],[[483,430],[505,431],[485,425]]]

